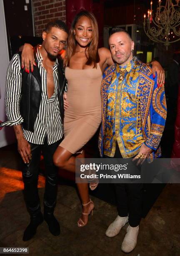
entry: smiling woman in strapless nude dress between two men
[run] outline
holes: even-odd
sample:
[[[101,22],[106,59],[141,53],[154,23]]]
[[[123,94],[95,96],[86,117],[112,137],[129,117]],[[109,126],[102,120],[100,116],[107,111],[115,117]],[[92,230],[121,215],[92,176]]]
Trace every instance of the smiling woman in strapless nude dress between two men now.
[[[88,11],[81,11],[72,22],[67,42],[65,138],[54,154],[55,165],[71,172],[75,172],[75,159],[85,158],[83,147],[100,125],[102,74],[107,66],[113,64],[110,51],[106,48],[98,49],[97,44],[98,27],[95,16]],[[22,58],[30,56],[29,52],[32,48],[28,47],[24,47]],[[32,56],[26,58],[26,61],[22,59],[26,69],[29,69],[27,63]],[[155,71],[163,72],[157,62],[153,63],[153,72]],[[97,184],[94,184],[94,187],[96,186]],[[83,227],[87,224],[88,215],[94,209],[94,203],[90,200],[87,183],[77,183],[77,188],[82,200],[82,215],[77,225]]]

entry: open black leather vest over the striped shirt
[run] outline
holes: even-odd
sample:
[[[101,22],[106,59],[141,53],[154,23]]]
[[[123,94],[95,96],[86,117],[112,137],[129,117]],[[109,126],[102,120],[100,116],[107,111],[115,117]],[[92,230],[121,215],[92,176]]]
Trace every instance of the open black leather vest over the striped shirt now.
[[[36,53],[36,48],[34,50]],[[20,56],[21,60],[21,56]],[[36,54],[35,54],[36,60]],[[64,102],[63,93],[65,90],[65,72],[63,67],[63,60],[58,58],[57,74],[58,74],[58,90],[57,97],[59,99],[60,115],[63,122],[64,119]],[[37,61],[37,60],[36,60]],[[21,65],[21,63],[20,63]],[[21,65],[22,67],[22,65]],[[20,114],[24,121],[23,128],[27,131],[34,131],[34,124],[39,113],[40,102],[42,98],[42,84],[38,66],[33,67],[33,72],[26,73],[25,68],[22,69],[22,84],[20,97]]]

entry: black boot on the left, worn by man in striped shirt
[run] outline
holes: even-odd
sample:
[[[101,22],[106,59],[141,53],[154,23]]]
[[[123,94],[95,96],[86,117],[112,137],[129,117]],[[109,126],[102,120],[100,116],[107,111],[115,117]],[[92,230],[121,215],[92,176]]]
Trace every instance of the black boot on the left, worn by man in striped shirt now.
[[[38,213],[38,215],[31,215],[30,224],[25,229],[23,235],[23,241],[30,240],[36,233],[37,227],[43,222],[44,218],[42,213]]]

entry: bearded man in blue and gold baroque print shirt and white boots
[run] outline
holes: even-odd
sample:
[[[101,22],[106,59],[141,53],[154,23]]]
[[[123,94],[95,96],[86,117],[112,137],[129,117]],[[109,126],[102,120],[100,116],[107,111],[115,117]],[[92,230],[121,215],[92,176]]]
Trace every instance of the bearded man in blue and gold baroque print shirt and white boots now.
[[[164,87],[158,87],[151,67],[133,57],[134,42],[129,33],[113,28],[109,38],[116,62],[102,80],[101,156],[143,161],[159,157],[166,119]],[[161,75],[161,74],[160,74]],[[115,184],[118,216],[106,230],[114,237],[129,222],[122,251],[129,253],[137,243],[142,215],[143,184]]]

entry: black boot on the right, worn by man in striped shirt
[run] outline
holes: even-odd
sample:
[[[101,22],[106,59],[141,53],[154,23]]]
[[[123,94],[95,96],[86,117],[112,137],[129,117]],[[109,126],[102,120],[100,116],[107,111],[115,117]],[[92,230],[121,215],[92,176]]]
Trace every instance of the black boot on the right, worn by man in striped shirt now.
[[[58,221],[56,220],[53,213],[44,213],[44,220],[47,222],[47,225],[49,227],[50,233],[53,236],[59,236],[60,235],[60,225]]]

